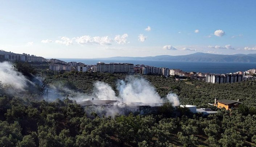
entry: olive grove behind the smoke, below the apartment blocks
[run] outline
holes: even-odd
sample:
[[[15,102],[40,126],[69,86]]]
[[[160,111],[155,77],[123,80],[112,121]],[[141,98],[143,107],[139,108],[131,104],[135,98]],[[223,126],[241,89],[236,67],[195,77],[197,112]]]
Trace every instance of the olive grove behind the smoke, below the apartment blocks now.
[[[125,74],[109,74],[96,72],[65,72],[59,75],[42,74],[46,77],[46,84],[71,87],[71,89],[91,93],[95,81],[104,81],[108,83],[118,95],[116,82],[118,79],[125,79]],[[181,104],[197,105],[199,107],[208,107],[208,103],[214,103],[215,97],[218,99],[237,100],[239,99],[245,105],[256,106],[256,81],[245,81],[232,84],[212,84],[202,81],[176,81],[172,77],[161,77],[153,75],[135,75],[143,76],[156,87],[156,91],[161,97],[166,97],[169,92],[176,93],[179,96]]]

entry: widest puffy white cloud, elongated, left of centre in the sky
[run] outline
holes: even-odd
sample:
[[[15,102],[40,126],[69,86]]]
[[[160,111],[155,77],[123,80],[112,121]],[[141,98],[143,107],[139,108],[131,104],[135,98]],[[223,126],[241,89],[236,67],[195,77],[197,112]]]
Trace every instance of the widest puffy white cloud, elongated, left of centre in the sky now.
[[[108,36],[91,37],[88,35],[84,35],[84,36],[75,38],[75,41],[80,45],[85,45],[85,44],[111,45],[111,42],[113,40],[111,38],[109,38]]]

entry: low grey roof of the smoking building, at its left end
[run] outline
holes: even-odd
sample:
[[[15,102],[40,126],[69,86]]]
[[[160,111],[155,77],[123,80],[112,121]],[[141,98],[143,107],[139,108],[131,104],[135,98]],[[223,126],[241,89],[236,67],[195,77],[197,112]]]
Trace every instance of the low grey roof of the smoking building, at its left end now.
[[[77,102],[77,104],[81,106],[87,106],[87,105],[115,105],[117,103],[122,103],[117,100],[88,100],[88,101],[80,101]]]

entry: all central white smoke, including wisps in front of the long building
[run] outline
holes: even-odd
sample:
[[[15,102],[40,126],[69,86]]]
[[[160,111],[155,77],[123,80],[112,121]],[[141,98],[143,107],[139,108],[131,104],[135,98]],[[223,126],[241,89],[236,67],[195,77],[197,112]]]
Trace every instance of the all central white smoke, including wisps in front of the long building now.
[[[119,80],[116,84],[116,89],[119,92],[118,96],[116,96],[115,91],[113,91],[109,84],[102,81],[96,81],[94,83],[93,91],[90,94],[74,91],[67,87],[63,87],[62,84],[59,84],[56,87],[51,88],[51,91],[57,93],[65,92],[64,95],[67,95],[70,99],[77,102],[92,100],[92,98],[94,98],[94,100],[119,101],[112,106],[86,106],[85,111],[88,116],[90,116],[92,112],[96,112],[100,117],[102,115],[115,117],[116,114],[125,113],[124,109],[122,109],[125,107],[124,103],[127,104],[127,106],[132,107],[139,105],[160,106],[161,103],[166,101],[165,98],[161,98],[158,95],[156,88],[141,76],[127,76],[125,80]],[[51,101],[55,99],[52,99]],[[173,106],[179,105],[178,96],[176,94],[169,93],[167,99]]]

